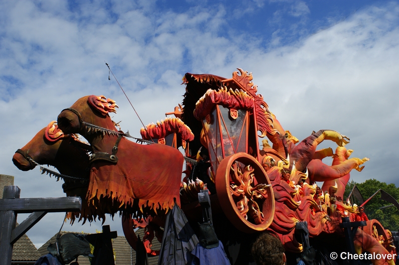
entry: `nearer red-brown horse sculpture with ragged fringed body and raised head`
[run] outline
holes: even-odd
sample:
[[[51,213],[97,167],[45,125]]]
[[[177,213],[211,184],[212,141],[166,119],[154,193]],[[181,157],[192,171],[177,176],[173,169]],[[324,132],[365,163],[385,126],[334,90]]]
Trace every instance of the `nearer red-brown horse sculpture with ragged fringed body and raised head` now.
[[[126,139],[109,117],[115,108],[115,101],[104,96],[86,96],[58,115],[58,126],[90,142],[93,154],[87,199],[97,207],[118,206],[114,210],[123,211],[125,236],[135,248],[134,220],[144,217],[154,223],[175,203],[180,205],[184,157],[164,144],[142,145]],[[164,224],[160,218],[157,225]]]

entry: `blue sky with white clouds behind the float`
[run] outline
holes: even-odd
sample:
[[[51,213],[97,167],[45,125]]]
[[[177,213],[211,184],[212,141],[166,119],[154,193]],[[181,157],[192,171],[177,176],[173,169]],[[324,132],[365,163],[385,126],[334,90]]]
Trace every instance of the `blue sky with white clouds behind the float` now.
[[[354,180],[399,185],[398,18],[398,1],[1,1],[0,173],[15,176],[21,197],[64,196],[61,183],[19,171],[11,157],[85,95],[116,100],[114,119],[139,135],[107,61],[145,124],[182,102],[186,72],[252,72],[285,130],[300,140],[343,133],[353,157],[370,158]],[[62,218],[48,214],[28,236],[41,246]],[[118,218],[107,222],[122,235]]]

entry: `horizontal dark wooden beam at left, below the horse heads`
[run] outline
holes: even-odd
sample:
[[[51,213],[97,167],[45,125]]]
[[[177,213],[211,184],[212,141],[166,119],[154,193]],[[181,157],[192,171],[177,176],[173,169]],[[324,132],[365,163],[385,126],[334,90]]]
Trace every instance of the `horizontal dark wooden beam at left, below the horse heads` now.
[[[0,211],[14,211],[15,213],[73,212],[80,211],[81,204],[80,197],[2,199],[0,200]]]

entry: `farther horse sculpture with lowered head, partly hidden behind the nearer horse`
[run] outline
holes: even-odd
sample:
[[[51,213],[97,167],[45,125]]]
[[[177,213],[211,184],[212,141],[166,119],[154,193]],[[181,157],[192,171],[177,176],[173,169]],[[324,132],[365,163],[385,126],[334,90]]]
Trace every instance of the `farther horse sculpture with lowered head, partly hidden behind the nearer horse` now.
[[[73,134],[64,134],[58,128],[57,122],[53,121],[18,149],[12,157],[12,162],[22,171],[31,170],[38,164],[56,167],[65,181],[62,188],[66,195],[82,198],[81,212],[73,212],[70,215],[71,221],[75,218],[79,218],[79,221],[84,219],[84,224],[87,219],[93,221],[93,217],[95,219],[100,214],[85,200],[89,186],[88,151],[91,151],[90,145],[79,141]],[[42,173],[46,171],[42,170]],[[60,175],[55,176],[60,178]],[[105,218],[103,215],[99,217]]]

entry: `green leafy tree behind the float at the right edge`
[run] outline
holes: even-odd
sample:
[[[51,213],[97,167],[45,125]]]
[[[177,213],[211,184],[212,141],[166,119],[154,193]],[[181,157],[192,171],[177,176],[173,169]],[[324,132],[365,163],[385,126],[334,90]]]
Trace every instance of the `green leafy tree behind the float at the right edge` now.
[[[395,184],[387,184],[377,179],[368,179],[363,183],[357,183],[355,181],[349,182],[345,188],[344,198],[348,197],[355,185],[358,186],[365,201],[379,189],[388,192],[397,201],[399,200],[399,188],[397,188]],[[353,196],[351,197],[351,199],[354,198]],[[359,205],[359,201],[356,199],[354,201]],[[381,193],[378,193],[365,205],[365,212],[369,219],[377,219],[384,228],[391,231],[399,231],[399,210],[396,207],[380,209],[387,205],[391,205],[391,203],[381,200]]]

